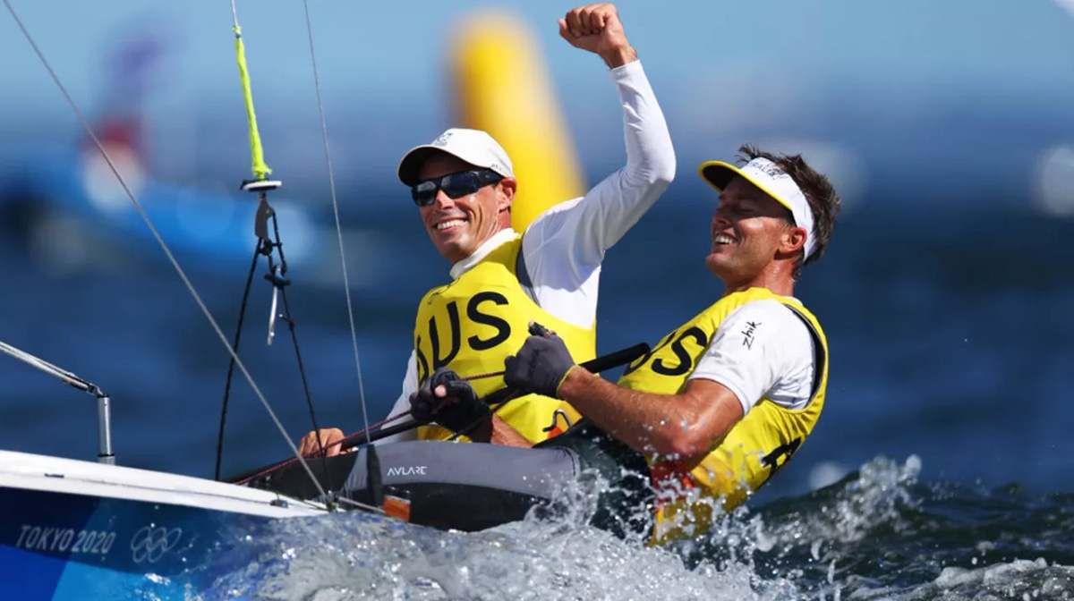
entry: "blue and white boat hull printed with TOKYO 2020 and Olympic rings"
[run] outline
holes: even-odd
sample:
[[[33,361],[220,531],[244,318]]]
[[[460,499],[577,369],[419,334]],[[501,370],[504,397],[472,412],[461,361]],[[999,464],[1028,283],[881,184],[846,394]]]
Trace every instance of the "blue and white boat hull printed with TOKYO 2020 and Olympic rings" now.
[[[323,508],[211,480],[0,452],[0,583],[18,599],[183,599],[250,558],[274,521]]]

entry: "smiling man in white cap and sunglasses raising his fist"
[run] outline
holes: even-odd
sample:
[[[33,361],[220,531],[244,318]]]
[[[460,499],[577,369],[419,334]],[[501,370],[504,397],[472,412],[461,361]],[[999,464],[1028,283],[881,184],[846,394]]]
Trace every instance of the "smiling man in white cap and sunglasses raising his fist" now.
[[[416,417],[435,423],[384,441],[447,439],[488,417],[469,439],[498,442],[492,439],[489,408],[474,401],[503,387],[503,378],[460,378],[502,370],[507,355],[528,336],[531,321],[555,331],[578,361],[594,357],[605,253],[674,177],[664,114],[615,6],[574,9],[560,19],[560,34],[608,65],[605,73],[623,112],[626,164],[585,195],[563,199],[518,232],[511,228],[511,203],[526,182],[516,180],[510,157],[487,132],[449,129],[406,152],[398,178],[410,188],[433,245],[451,262],[451,282],[430,290],[418,305],[413,350],[389,415],[413,409]],[[446,383],[455,384],[448,386],[452,393],[440,386]],[[431,405],[431,390],[437,389]],[[539,395],[513,399],[496,414],[531,443],[569,425],[556,415],[578,416],[563,401]],[[325,446],[342,437],[337,428],[321,430]],[[303,439],[304,453],[318,449],[314,433]],[[337,449],[331,446],[328,454]]]

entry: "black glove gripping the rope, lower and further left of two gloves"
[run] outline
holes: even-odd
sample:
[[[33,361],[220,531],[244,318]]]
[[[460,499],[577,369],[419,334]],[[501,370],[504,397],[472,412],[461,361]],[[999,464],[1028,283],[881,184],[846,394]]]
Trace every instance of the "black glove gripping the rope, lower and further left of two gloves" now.
[[[436,389],[445,387],[444,396]],[[427,424],[436,422],[453,433],[460,433],[489,420],[492,410],[477,397],[474,386],[447,367],[433,372],[421,390],[410,395],[410,416]]]

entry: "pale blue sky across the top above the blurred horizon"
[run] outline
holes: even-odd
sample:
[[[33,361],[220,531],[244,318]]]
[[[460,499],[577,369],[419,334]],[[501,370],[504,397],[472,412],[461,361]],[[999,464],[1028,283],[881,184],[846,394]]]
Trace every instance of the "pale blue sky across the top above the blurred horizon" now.
[[[88,93],[98,84],[99,53],[110,36],[140,19],[176,34],[179,90],[212,93],[235,84],[227,0],[12,3],[76,92]],[[381,98],[435,93],[437,57],[451,25],[489,6],[528,20],[557,82],[591,79],[593,61],[557,36],[555,19],[572,5],[309,1],[324,86]],[[908,91],[960,82],[1070,89],[1074,82],[1074,18],[1050,0],[627,0],[618,5],[657,80],[681,84],[736,63],[774,62],[831,85]],[[295,85],[311,85],[303,2],[238,0],[237,8],[260,96],[286,96]],[[5,112],[55,96],[8,15],[0,18],[0,56],[4,88],[15,90],[0,98]]]

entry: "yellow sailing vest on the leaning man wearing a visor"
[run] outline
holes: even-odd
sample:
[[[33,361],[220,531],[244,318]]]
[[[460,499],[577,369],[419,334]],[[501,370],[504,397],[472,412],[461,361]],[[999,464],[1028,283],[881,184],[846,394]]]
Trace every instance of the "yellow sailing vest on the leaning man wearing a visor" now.
[[[653,543],[707,531],[717,505],[729,511],[783,468],[813,430],[828,386],[828,341],[816,318],[798,300],[751,288],[715,302],[665,336],[652,353],[624,370],[619,384],[659,394],[681,393],[720,324],[751,300],[773,298],[808,325],[814,343],[813,397],[801,410],[761,398],[700,461],[656,461],[648,457],[657,489]]]

